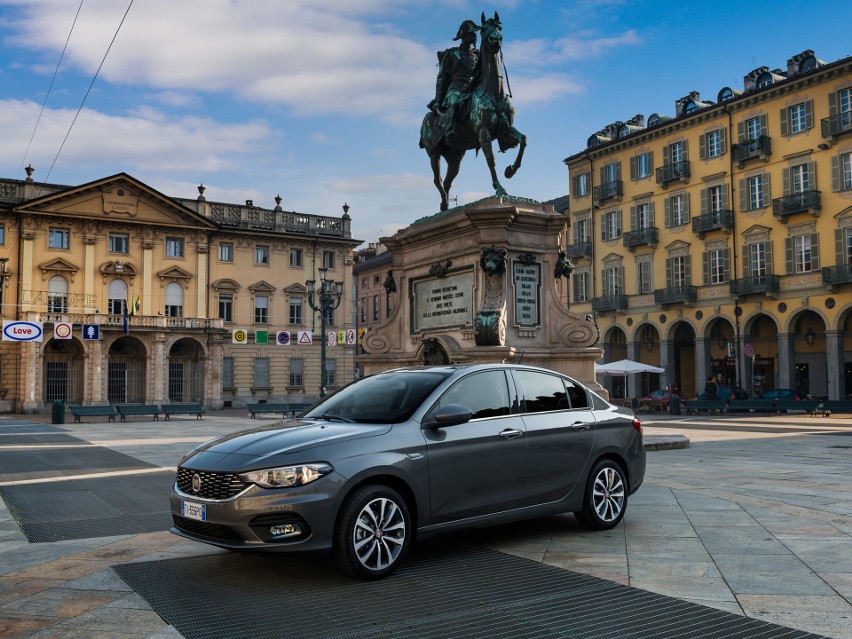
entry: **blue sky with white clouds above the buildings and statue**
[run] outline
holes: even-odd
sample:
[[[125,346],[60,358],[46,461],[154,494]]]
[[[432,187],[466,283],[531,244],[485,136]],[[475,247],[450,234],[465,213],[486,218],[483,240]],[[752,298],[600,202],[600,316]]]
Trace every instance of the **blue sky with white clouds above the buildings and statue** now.
[[[368,242],[438,210],[418,147],[435,52],[483,11],[500,14],[529,139],[503,185],[537,200],[567,193],[562,160],[610,122],[674,115],[691,91],[714,100],[806,49],[852,55],[848,1],[134,0],[69,134],[129,4],[0,0],[0,176],[31,163],[59,184],[123,171],[177,197],[203,183],[209,200],[272,208],[280,194],[319,215],[347,202]],[[501,175],[514,154],[498,154]],[[468,152],[452,195],[491,193]]]

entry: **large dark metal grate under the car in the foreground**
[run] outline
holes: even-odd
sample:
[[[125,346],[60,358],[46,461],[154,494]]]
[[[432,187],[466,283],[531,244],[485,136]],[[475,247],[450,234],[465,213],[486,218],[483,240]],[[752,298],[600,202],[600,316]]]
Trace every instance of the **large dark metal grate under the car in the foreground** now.
[[[818,639],[448,539],[413,550],[378,582],[274,554],[114,570],[187,639]]]

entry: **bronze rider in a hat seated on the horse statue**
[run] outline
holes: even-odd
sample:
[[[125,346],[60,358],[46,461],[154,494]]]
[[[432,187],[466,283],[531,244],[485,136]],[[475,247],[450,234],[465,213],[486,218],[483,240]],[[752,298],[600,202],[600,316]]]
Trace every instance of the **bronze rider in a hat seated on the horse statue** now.
[[[476,32],[479,25],[473,20],[465,20],[461,23],[458,33],[453,40],[461,40],[461,45],[452,47],[446,51],[438,52],[438,81],[435,87],[435,99],[427,108],[438,112],[438,107],[445,109],[442,117],[445,123],[446,137],[448,142],[453,142],[456,133],[456,111],[462,98],[465,97],[465,89],[473,75],[479,52],[476,50]]]

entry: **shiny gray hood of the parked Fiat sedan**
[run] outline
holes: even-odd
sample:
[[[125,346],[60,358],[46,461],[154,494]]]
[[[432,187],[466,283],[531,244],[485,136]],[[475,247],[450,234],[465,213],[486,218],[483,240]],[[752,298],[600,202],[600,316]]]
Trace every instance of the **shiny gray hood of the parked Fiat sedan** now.
[[[356,424],[312,419],[289,419],[269,426],[238,431],[201,444],[182,462],[194,468],[216,470],[228,460],[233,470],[261,468],[273,458],[329,444],[375,437],[388,424]],[[321,454],[304,461],[323,461]]]

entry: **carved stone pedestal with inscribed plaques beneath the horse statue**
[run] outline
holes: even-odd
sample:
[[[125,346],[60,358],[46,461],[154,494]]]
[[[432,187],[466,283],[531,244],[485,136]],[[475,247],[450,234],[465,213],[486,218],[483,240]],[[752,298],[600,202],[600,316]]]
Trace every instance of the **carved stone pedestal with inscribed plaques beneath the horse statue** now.
[[[568,308],[558,267],[569,220],[552,206],[489,197],[417,220],[393,254],[391,316],[362,339],[365,374],[430,363],[522,363],[595,380],[598,328]]]

